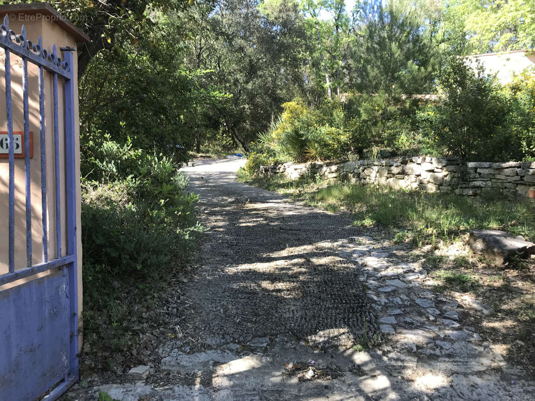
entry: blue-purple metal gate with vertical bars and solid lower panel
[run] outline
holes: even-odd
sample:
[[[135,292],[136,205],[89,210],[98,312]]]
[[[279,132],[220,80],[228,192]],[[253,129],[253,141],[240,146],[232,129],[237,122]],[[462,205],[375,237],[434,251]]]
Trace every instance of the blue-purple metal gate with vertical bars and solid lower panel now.
[[[5,99],[7,110],[7,143],[9,147],[9,271],[0,275],[0,400],[34,401],[58,398],[78,379],[78,295],[77,295],[77,209],[75,175],[74,127],[74,49],[60,49],[64,60],[42,48],[41,37],[37,44],[27,40],[24,26],[20,35],[9,28],[4,18],[0,25],[0,47],[5,52]],[[12,106],[12,56],[22,63],[22,99],[24,113],[24,173],[26,227],[16,227],[15,221],[15,163]],[[19,62],[20,60],[18,60]],[[41,205],[42,252],[40,263],[32,263],[32,194],[30,187],[30,143],[28,106],[28,62],[38,68],[39,125],[41,154]],[[46,75],[45,75],[46,74]],[[43,82],[52,76],[53,137],[45,135],[45,94]],[[58,79],[64,81],[64,132],[60,132],[58,111]],[[60,87],[60,89],[62,89]],[[37,109],[37,105],[35,105]],[[61,130],[63,131],[63,129]],[[50,135],[51,136],[51,135]],[[55,166],[56,250],[49,260],[47,216],[47,141],[53,142]],[[62,141],[62,142],[60,142]],[[64,146],[60,170],[60,143]],[[64,144],[64,145],[63,145]],[[62,148],[63,149],[63,148]],[[60,179],[61,178],[61,179]],[[64,202],[61,202],[62,195]],[[24,203],[21,201],[21,204]],[[64,203],[64,204],[62,204]],[[33,205],[35,208],[36,206]],[[39,210],[39,209],[38,209]],[[62,219],[63,215],[63,219]],[[62,221],[63,220],[63,221]],[[62,244],[62,228],[66,243]],[[16,266],[16,230],[25,232],[26,265]],[[52,253],[52,252],[50,252]],[[42,262],[41,262],[42,259]],[[39,278],[34,275],[40,273]],[[25,279],[25,280],[21,280]]]

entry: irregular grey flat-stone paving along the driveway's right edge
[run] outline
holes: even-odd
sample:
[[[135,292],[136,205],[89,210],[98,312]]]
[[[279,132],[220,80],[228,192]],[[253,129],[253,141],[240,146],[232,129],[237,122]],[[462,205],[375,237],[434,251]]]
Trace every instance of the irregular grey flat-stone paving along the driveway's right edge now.
[[[381,332],[388,336],[387,349],[411,354],[405,360],[442,373],[476,373],[506,367],[500,353],[473,327],[463,324],[463,313],[475,309],[492,313],[492,308],[464,298],[463,304],[432,291],[434,282],[418,263],[392,256],[394,248],[380,248],[371,237],[351,238],[333,244],[341,257],[361,267],[359,280],[369,288],[367,295],[376,310]]]

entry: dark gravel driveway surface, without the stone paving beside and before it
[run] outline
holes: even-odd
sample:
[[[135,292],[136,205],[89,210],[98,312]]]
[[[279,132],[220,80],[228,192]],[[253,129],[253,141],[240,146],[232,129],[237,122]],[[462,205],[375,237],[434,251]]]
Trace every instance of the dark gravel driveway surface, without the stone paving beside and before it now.
[[[204,340],[247,344],[291,334],[346,348],[376,331],[354,262],[331,244],[358,235],[351,220],[236,182],[243,160],[200,160],[184,168],[210,228],[189,289]],[[366,340],[366,341],[367,341]]]

